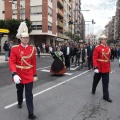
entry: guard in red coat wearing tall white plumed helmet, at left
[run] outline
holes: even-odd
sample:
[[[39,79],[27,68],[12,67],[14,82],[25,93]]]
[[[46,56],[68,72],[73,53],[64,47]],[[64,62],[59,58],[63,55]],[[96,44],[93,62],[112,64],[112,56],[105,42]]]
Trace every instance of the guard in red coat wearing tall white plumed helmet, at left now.
[[[35,120],[37,117],[34,115],[32,89],[34,80],[37,80],[36,49],[34,46],[28,45],[29,34],[25,22],[21,22],[16,37],[20,39],[21,44],[12,47],[9,66],[12,80],[16,83],[17,88],[17,107],[22,108],[25,87],[28,119]]]

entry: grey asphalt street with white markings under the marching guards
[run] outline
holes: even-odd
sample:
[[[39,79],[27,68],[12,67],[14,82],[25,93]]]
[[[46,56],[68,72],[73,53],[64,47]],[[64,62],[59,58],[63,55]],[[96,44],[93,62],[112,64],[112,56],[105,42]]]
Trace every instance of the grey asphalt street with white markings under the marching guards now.
[[[74,64],[64,76],[49,73],[51,56],[37,58],[39,80],[34,83],[34,108],[38,120],[120,120],[120,68],[112,62],[109,93],[112,103],[102,99],[102,82],[91,94],[93,71],[81,71]],[[16,88],[8,64],[0,66],[0,120],[27,120],[27,108],[17,108]]]

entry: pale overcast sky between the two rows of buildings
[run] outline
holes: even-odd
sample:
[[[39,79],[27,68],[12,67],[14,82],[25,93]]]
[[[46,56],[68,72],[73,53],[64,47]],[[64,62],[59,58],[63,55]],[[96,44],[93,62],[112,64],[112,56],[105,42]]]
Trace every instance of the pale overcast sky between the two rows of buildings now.
[[[94,19],[96,24],[93,25],[86,22],[86,33],[96,33],[99,30],[104,30],[105,25],[115,15],[117,0],[81,0],[81,9],[90,10],[89,12],[82,11],[85,21]],[[89,25],[88,25],[89,24]]]

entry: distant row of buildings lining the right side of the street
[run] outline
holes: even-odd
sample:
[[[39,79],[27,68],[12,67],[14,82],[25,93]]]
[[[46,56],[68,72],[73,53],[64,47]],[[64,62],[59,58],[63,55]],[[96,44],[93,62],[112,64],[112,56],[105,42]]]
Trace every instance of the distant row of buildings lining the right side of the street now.
[[[120,0],[117,0],[115,16],[112,16],[105,26],[104,33],[108,36],[108,40],[114,44],[120,42]]]

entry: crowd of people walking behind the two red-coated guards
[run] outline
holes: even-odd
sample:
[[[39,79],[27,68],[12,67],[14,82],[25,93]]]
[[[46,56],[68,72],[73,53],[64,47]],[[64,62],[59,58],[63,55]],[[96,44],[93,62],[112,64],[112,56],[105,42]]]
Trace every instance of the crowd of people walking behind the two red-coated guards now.
[[[88,70],[90,70],[91,68],[93,68],[92,57],[93,57],[93,51],[95,46],[96,45],[94,45],[92,41],[90,41],[88,44],[66,42],[64,44],[59,43],[56,45],[54,44],[49,45],[48,43],[46,43],[44,44],[44,47],[42,46],[42,48],[40,48],[39,46],[36,46],[36,49],[37,49],[38,57],[40,57],[40,52],[44,51],[43,53],[51,53],[54,59],[58,58],[58,57],[55,57],[56,56],[55,52],[58,51],[58,49],[60,49],[60,52],[62,52],[62,56],[60,55],[60,57],[62,57],[62,62],[64,63],[66,69],[70,69],[70,64],[74,62],[75,66],[79,66],[79,70],[82,69],[83,66],[87,66]],[[115,58],[119,59],[120,46],[110,45],[109,47],[111,49],[111,55],[110,55],[111,61],[114,61]],[[52,68],[53,66],[54,64],[52,64]],[[51,70],[51,71],[52,73],[56,73],[56,74],[63,73],[60,71],[59,72],[54,70]]]

